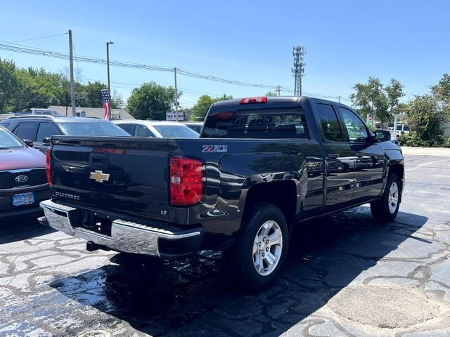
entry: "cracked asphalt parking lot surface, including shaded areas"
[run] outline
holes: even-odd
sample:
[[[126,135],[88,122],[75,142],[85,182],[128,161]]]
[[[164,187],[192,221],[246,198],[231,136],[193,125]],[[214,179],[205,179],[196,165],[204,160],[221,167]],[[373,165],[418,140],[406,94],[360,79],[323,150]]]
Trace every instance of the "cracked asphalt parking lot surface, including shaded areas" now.
[[[450,157],[406,155],[397,219],[305,223],[271,289],[198,265],[85,251],[32,220],[0,227],[0,336],[450,336]]]

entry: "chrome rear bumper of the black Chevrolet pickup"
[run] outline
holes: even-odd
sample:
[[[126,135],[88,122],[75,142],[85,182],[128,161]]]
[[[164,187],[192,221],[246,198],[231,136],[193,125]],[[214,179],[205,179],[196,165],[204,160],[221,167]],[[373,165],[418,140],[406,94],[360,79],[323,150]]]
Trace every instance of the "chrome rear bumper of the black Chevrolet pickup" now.
[[[58,204],[51,200],[42,201],[40,205],[45,214],[44,217],[39,218],[41,224],[49,225],[72,237],[79,237],[106,246],[113,251],[162,257],[167,254],[160,252],[160,239],[180,243],[188,242],[187,247],[192,247],[193,250],[196,246],[200,246],[201,228],[174,231],[173,227],[169,226],[167,228],[152,227],[118,218],[112,221],[111,235],[109,236],[78,226],[75,223],[77,221],[77,209],[73,207]],[[173,244],[170,246],[172,251],[176,247]]]

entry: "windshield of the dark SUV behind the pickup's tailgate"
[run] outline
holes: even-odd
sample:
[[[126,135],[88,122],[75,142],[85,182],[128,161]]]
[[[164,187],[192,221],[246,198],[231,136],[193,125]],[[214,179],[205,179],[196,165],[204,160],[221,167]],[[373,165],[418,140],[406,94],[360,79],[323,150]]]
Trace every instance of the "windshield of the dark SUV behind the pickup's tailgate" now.
[[[88,122],[88,123],[61,123],[61,128],[65,135],[69,136],[115,136],[115,137],[129,137],[129,133],[124,131],[119,126],[103,122]]]

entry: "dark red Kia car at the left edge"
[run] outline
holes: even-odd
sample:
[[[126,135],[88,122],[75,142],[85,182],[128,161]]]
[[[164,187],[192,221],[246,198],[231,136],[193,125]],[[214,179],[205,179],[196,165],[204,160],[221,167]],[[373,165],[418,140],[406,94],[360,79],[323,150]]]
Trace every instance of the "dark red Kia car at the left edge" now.
[[[39,203],[49,197],[45,155],[0,126],[0,223],[39,215]]]

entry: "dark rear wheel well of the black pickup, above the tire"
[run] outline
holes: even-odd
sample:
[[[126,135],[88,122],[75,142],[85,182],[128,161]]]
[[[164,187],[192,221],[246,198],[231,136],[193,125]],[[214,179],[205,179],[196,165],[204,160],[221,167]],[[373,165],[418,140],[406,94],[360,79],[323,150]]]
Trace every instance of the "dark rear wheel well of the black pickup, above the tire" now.
[[[250,187],[245,199],[243,219],[245,219],[246,214],[250,213],[253,206],[258,202],[268,202],[281,209],[290,229],[297,205],[297,189],[293,181],[285,180],[261,183]]]

